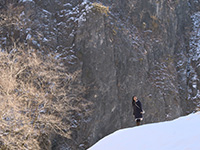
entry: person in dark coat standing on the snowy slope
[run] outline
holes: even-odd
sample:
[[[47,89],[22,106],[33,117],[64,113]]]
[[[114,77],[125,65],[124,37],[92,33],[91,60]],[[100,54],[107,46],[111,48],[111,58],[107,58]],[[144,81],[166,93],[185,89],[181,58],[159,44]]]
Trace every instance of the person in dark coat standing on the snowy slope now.
[[[135,116],[136,125],[139,126],[140,122],[143,120],[142,114],[144,114],[144,110],[142,109],[141,102],[137,99],[136,96],[132,98],[132,107],[133,107],[133,115]]]

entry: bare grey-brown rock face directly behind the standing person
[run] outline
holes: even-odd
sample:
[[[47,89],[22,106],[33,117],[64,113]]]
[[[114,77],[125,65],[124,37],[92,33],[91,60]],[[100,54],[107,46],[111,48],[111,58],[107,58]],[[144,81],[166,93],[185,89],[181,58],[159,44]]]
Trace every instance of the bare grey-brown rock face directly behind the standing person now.
[[[82,81],[88,87],[86,98],[95,105],[88,127],[90,144],[134,125],[133,95],[146,111],[143,123],[170,120],[194,108],[187,92],[189,3],[104,4],[111,6],[111,14],[89,13],[75,42]]]

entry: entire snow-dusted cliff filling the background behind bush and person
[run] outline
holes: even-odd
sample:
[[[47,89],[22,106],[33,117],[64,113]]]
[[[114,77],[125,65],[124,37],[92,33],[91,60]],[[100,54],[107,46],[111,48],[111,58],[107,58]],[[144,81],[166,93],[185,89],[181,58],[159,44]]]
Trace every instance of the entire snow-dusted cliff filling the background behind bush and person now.
[[[0,29],[2,48],[14,37],[82,71],[93,114],[76,118],[73,139],[56,137],[53,149],[86,149],[134,126],[133,95],[146,111],[143,123],[185,115],[199,98],[199,1],[99,0],[109,12],[94,2],[23,0],[20,22]]]

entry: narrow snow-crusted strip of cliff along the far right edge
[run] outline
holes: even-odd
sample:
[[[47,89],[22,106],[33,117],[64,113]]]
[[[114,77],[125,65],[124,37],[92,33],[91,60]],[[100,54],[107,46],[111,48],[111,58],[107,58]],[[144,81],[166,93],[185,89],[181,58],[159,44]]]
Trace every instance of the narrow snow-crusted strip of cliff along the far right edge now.
[[[199,58],[200,58],[200,11],[192,16],[193,28],[190,37],[189,68],[188,68],[188,99],[196,103],[200,108],[200,85],[199,85]]]

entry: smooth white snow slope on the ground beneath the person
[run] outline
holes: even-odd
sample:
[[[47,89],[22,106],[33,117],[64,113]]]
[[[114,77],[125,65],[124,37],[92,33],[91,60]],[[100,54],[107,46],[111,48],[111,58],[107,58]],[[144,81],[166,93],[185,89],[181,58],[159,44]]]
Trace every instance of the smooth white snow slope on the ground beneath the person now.
[[[200,150],[200,112],[116,131],[88,150]]]

